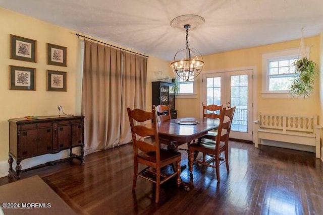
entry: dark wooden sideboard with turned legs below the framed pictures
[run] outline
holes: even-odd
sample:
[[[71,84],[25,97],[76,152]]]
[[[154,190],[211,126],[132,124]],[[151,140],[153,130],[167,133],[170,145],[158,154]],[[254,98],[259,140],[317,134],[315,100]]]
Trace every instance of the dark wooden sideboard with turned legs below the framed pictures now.
[[[44,154],[55,154],[70,149],[70,157],[84,165],[84,116],[39,116],[9,119],[9,175],[20,179],[20,162]],[[81,147],[81,155],[72,153],[74,147]],[[13,159],[17,166],[12,168]],[[38,165],[50,166],[66,159]]]

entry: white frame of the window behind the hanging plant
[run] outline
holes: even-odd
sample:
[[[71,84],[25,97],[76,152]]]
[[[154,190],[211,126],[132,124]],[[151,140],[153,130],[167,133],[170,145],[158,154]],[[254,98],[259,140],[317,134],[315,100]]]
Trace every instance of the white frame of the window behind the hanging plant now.
[[[262,98],[290,98],[289,91],[270,91],[269,90],[269,62],[276,60],[286,60],[291,58],[299,58],[299,48],[285,49],[275,52],[267,52],[262,54],[262,86],[261,97]],[[309,58],[309,46],[305,47],[305,56]]]

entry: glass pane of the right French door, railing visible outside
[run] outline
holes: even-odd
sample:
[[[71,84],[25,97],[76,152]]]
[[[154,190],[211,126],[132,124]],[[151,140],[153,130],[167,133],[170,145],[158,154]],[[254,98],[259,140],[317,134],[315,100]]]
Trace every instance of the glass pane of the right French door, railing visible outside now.
[[[231,76],[231,107],[236,106],[231,130],[248,132],[248,75]]]

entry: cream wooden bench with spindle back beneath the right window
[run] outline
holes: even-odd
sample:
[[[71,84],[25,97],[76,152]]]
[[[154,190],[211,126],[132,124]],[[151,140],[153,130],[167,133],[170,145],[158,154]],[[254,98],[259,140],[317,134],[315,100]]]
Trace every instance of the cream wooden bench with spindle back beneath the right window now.
[[[320,158],[321,126],[317,124],[316,115],[258,113],[258,120],[254,123],[257,135],[255,148],[261,144],[260,139],[290,142],[315,147],[315,157]]]

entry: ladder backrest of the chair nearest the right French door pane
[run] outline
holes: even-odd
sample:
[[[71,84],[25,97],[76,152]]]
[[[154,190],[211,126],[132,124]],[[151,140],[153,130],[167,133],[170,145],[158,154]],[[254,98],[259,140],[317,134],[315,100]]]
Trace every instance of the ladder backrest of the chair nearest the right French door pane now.
[[[228,144],[228,141],[229,141],[231,124],[232,124],[235,110],[236,110],[235,106],[231,107],[229,109],[223,108],[223,110],[222,110],[224,119],[223,119],[223,123],[221,126],[221,131],[220,131],[221,133],[218,137],[220,138],[219,141],[224,141],[224,142],[226,142],[226,144]],[[220,119],[220,124],[221,124],[221,119]],[[219,127],[219,130],[220,130],[220,127]],[[218,138],[217,138],[217,141],[218,141]]]

